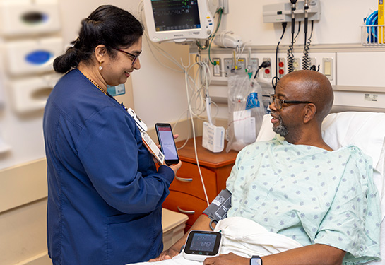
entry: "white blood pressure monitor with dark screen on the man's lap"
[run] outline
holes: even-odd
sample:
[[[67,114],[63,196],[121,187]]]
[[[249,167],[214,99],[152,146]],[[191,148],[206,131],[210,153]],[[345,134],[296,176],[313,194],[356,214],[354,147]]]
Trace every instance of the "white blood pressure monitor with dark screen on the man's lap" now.
[[[185,259],[204,261],[206,258],[219,256],[221,245],[220,232],[192,230],[187,237],[183,256]]]

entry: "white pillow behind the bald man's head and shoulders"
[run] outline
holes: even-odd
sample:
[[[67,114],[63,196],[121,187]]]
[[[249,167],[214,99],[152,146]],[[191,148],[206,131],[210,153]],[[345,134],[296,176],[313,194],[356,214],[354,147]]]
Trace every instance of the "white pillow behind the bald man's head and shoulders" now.
[[[266,114],[256,141],[273,139],[271,115]],[[334,150],[354,144],[372,157],[374,184],[381,198],[381,218],[385,215],[384,167],[385,167],[385,113],[381,112],[339,112],[328,114],[322,123],[324,141]]]

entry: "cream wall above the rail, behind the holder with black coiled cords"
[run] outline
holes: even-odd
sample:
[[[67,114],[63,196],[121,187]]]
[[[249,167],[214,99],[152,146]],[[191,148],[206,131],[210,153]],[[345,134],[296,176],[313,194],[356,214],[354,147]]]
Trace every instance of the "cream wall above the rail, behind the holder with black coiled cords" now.
[[[230,13],[223,18],[221,28],[240,35],[247,45],[276,45],[282,34],[280,23],[263,23],[262,7],[267,4],[286,3],[288,0],[229,0]],[[312,44],[360,42],[360,25],[369,8],[377,10],[377,0],[319,0],[321,19],[314,23]],[[282,44],[290,43],[290,26]],[[297,29],[297,25],[296,25]],[[310,30],[310,29],[309,29]],[[303,23],[302,30],[303,33]],[[297,43],[302,44],[301,34]]]

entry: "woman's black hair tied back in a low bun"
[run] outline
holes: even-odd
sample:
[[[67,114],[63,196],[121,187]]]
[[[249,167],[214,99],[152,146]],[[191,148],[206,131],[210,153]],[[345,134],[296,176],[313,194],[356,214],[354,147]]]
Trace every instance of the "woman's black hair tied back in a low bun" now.
[[[114,58],[117,52],[112,48],[130,47],[143,35],[143,25],[131,13],[111,5],[99,6],[81,25],[78,39],[54,60],[57,73],[66,73],[81,61],[88,64],[97,45],[105,45]]]

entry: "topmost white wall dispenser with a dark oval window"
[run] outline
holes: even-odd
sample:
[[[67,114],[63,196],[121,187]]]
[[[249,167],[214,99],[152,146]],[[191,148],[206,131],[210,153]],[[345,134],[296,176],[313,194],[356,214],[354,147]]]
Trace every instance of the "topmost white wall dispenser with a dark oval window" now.
[[[6,37],[60,30],[57,0],[0,1],[0,34]]]

